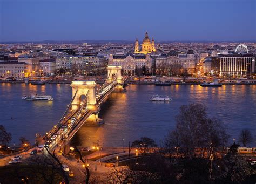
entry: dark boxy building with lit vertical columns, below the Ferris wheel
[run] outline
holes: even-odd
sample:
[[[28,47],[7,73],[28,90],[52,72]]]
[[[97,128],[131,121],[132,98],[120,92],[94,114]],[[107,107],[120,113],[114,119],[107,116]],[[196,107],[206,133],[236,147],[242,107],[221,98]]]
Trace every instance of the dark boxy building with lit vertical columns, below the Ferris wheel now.
[[[252,54],[227,54],[212,57],[212,72],[219,76],[254,73]]]

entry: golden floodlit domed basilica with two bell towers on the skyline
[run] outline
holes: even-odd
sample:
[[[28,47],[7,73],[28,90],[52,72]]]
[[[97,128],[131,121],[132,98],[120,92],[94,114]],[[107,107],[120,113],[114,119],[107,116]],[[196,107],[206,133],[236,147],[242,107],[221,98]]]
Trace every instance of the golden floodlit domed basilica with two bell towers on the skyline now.
[[[139,41],[138,41],[138,38],[137,38],[136,42],[135,42],[134,53],[147,54],[147,53],[151,53],[151,52],[156,52],[156,48],[154,47],[154,38],[152,38],[152,42],[151,42],[150,38],[149,38],[149,36],[147,35],[147,32],[146,32],[145,38],[143,39],[143,42],[142,42],[142,50],[139,51]]]

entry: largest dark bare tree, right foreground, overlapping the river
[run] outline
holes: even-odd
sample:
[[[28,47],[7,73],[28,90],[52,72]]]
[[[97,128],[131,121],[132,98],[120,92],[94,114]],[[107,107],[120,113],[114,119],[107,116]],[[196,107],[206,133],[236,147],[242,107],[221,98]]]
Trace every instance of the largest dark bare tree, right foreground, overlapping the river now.
[[[180,107],[176,116],[176,128],[167,136],[166,145],[177,148],[181,155],[192,158],[196,148],[213,153],[216,147],[227,143],[228,134],[224,124],[215,118],[209,118],[203,104],[189,104]]]

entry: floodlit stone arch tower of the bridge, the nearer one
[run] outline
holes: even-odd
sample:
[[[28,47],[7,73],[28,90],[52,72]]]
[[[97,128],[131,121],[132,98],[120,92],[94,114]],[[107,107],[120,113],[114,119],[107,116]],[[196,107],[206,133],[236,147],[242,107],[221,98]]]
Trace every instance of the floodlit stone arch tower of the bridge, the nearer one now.
[[[72,98],[76,95],[72,101],[72,110],[77,110],[80,107],[81,96],[87,96],[87,108],[92,111],[97,110],[96,97],[95,97],[95,81],[72,81]]]

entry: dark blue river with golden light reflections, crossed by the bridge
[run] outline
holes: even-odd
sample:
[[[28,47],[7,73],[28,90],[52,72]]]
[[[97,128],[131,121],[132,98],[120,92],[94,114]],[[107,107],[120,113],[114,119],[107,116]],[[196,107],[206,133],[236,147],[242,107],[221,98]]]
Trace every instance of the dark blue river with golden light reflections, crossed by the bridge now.
[[[174,117],[179,107],[188,103],[207,106],[210,116],[222,120],[231,134],[238,138],[242,128],[256,132],[256,85],[224,85],[201,87],[199,85],[129,85],[127,92],[113,92],[102,105],[99,117],[102,126],[83,126],[73,138],[73,143],[87,146],[99,140],[101,146],[125,146],[140,137],[151,137],[159,143],[174,128]],[[49,94],[54,101],[26,101],[21,97],[30,94]],[[170,103],[149,101],[154,94],[166,94]],[[44,134],[56,125],[71,100],[68,84],[0,84],[0,125],[12,134],[12,143],[21,136],[34,142],[35,134]],[[256,141],[256,137],[254,139]],[[254,142],[255,145],[255,142]]]

